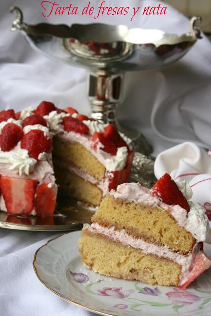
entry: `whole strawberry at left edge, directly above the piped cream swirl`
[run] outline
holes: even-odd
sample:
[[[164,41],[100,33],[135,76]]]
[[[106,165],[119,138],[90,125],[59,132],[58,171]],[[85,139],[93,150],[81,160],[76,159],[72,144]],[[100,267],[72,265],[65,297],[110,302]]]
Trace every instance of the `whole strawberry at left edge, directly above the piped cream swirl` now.
[[[13,149],[23,136],[23,130],[14,123],[7,123],[1,131],[0,148],[3,152]]]

